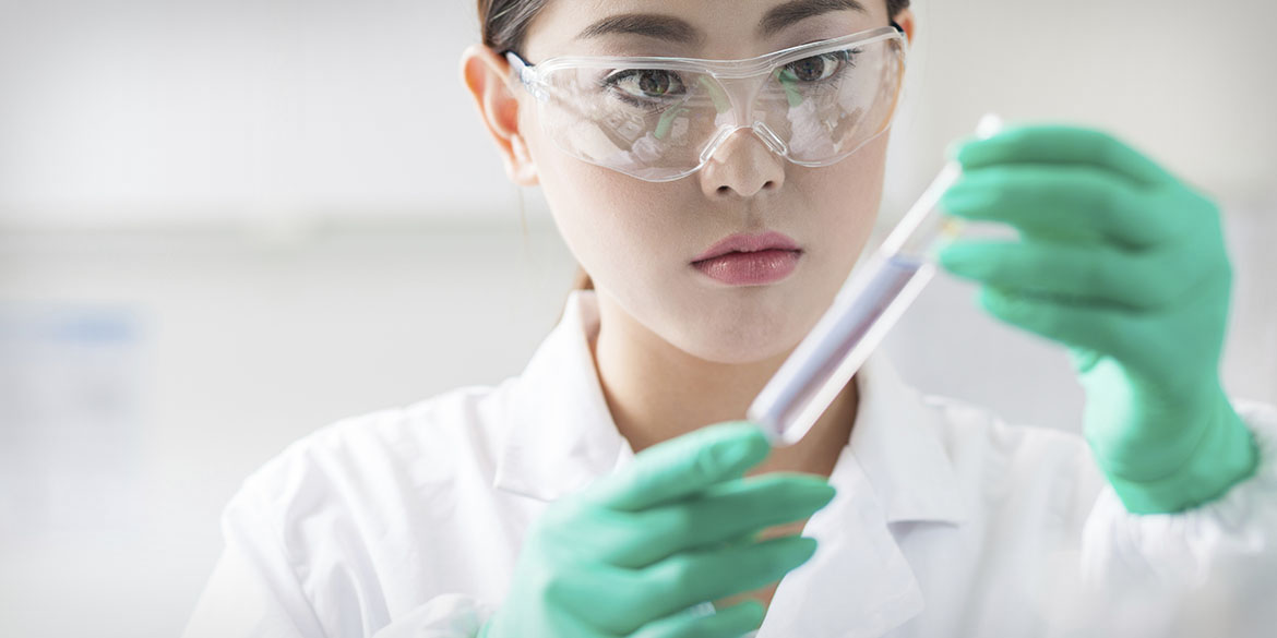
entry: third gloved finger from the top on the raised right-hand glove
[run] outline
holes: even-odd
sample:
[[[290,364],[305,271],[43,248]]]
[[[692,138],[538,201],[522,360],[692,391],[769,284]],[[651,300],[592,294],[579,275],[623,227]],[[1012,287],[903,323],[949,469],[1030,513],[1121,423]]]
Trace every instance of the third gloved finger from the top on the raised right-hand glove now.
[[[1059,301],[1157,310],[1188,300],[1213,271],[1176,250],[1125,253],[1105,245],[955,241],[940,251],[949,272],[1009,292]]]

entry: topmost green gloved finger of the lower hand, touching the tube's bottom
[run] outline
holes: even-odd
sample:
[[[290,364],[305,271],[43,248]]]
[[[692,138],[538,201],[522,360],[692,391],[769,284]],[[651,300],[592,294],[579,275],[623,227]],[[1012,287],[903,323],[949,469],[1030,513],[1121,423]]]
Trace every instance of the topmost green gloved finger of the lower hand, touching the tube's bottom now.
[[[628,467],[601,478],[581,498],[612,509],[638,510],[739,478],[770,450],[757,424],[710,425],[642,450]]]

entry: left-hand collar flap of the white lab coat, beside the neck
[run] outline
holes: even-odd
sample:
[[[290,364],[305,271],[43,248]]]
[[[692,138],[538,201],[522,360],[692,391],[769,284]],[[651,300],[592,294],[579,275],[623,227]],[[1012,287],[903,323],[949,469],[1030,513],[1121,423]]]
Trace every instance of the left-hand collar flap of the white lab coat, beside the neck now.
[[[508,382],[495,487],[555,500],[610,473],[622,450],[630,452],[608,411],[590,355],[587,339],[599,328],[594,295],[571,292],[563,319],[524,373]]]

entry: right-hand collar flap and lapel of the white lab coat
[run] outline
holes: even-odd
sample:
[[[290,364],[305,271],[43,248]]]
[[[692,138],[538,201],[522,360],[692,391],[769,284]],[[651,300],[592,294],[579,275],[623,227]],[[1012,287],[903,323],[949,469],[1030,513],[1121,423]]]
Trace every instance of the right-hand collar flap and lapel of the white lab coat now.
[[[923,597],[893,523],[967,516],[931,408],[881,355],[856,379],[856,426],[830,475],[838,495],[803,530],[820,546],[780,582],[759,638],[872,638],[900,627]]]

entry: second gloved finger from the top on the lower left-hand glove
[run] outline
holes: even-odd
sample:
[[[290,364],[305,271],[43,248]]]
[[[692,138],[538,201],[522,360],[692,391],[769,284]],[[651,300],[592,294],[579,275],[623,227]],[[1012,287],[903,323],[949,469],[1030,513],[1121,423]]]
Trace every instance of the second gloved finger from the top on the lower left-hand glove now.
[[[613,513],[608,519],[617,524],[603,533],[610,545],[601,560],[641,568],[681,551],[720,546],[807,518],[834,494],[831,485],[812,475],[771,473],[719,484],[693,499]]]

